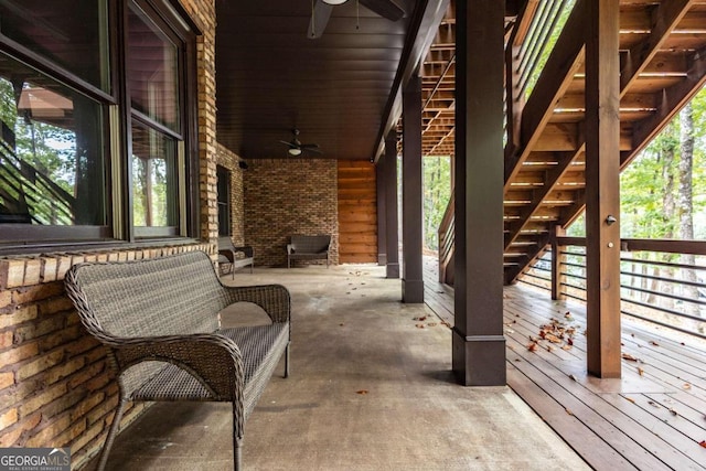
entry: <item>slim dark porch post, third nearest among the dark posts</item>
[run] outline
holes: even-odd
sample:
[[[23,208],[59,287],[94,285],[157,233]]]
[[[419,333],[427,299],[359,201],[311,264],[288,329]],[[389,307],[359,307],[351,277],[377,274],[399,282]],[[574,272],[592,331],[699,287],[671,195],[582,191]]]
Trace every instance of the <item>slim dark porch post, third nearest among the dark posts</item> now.
[[[385,138],[385,157],[383,158],[383,179],[385,180],[385,247],[387,278],[399,278],[399,222],[397,214],[397,135],[389,131]]]

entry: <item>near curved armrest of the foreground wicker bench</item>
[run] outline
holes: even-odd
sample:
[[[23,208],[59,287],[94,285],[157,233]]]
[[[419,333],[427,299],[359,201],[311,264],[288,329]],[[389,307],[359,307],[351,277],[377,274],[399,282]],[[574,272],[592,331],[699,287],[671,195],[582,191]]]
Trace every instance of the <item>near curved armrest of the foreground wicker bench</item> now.
[[[243,404],[243,356],[236,343],[224,335],[118,338],[106,343],[113,349],[120,371],[141,362],[169,362],[199,379],[213,399]]]

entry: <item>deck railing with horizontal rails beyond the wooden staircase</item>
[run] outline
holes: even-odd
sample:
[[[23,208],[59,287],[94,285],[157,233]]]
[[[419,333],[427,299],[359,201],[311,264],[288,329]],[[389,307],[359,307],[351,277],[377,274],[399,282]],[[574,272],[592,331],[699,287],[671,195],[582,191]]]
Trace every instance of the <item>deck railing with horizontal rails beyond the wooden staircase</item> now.
[[[586,239],[556,237],[552,247],[521,282],[586,301]],[[706,242],[622,239],[620,267],[623,314],[706,339]]]

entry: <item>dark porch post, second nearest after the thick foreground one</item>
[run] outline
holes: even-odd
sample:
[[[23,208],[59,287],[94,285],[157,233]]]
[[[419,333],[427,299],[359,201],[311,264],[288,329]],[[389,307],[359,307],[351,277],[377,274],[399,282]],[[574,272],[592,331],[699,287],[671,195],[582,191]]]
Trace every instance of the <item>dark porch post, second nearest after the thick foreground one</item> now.
[[[414,74],[403,90],[402,152],[402,300],[424,302],[421,259],[421,77]]]

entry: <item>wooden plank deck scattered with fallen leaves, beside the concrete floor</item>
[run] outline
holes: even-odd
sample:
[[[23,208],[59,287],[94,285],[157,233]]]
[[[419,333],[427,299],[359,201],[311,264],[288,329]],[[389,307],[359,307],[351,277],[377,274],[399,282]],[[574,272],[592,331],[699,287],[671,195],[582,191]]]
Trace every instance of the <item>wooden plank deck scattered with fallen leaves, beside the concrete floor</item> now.
[[[425,301],[452,325],[436,264],[425,259]],[[706,342],[623,317],[622,378],[598,379],[584,306],[522,286],[504,298],[509,386],[592,468],[706,469]]]

